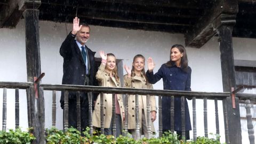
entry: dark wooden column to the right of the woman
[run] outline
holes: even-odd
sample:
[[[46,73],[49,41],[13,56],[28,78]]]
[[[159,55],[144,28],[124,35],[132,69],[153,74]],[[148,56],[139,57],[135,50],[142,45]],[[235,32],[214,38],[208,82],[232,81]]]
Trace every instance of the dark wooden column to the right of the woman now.
[[[235,24],[235,15],[221,14],[219,27],[220,58],[222,71],[223,91],[230,92],[231,87],[236,87],[235,67],[232,43],[232,31]],[[235,108],[232,104],[235,104]],[[242,143],[241,123],[239,113],[239,100],[232,101],[231,96],[223,101],[223,109],[227,110],[225,129],[227,130],[227,143]]]

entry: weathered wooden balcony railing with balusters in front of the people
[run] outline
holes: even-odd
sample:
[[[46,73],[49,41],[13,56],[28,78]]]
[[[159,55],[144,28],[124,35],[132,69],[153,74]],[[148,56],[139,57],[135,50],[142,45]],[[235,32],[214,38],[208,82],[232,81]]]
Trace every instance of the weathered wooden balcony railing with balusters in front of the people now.
[[[89,127],[90,133],[92,134],[92,95],[93,93],[100,93],[100,96],[103,97],[103,93],[111,93],[113,94],[113,99],[115,99],[115,94],[124,94],[125,98],[125,123],[124,130],[127,134],[128,127],[128,106],[127,106],[127,95],[147,95],[147,121],[151,121],[150,119],[150,111],[149,111],[149,95],[156,95],[158,97],[158,119],[159,119],[159,137],[162,136],[162,97],[171,97],[172,102],[170,103],[171,108],[171,131],[174,131],[174,97],[181,98],[181,121],[182,121],[182,134],[185,135],[185,98],[192,99],[192,113],[193,113],[193,139],[197,138],[197,126],[196,126],[196,99],[203,99],[204,102],[204,135],[208,137],[208,127],[207,127],[207,100],[214,100],[215,104],[215,127],[216,133],[220,132],[219,129],[219,112],[218,112],[218,100],[223,101],[223,105],[225,105],[225,101],[227,97],[230,97],[230,92],[188,92],[188,91],[170,91],[170,90],[152,90],[152,89],[129,89],[123,87],[100,87],[100,86],[81,86],[81,85],[58,85],[58,84],[40,84],[38,86],[38,98],[36,98],[36,92],[34,88],[34,83],[17,83],[17,82],[0,82],[0,88],[3,88],[3,130],[6,130],[6,89],[15,89],[15,127],[19,126],[19,90],[25,89],[27,91],[27,109],[28,109],[28,126],[29,127],[40,127],[43,130],[34,131],[35,136],[38,138],[37,143],[41,143],[45,141],[44,135],[44,123],[45,123],[45,109],[44,109],[44,91],[52,91],[52,125],[56,124],[56,91],[65,91],[65,105],[63,109],[63,125],[64,130],[68,129],[68,93],[70,91],[77,92],[77,112],[80,111],[80,103],[79,103],[79,93],[87,92],[89,98]],[[170,96],[166,96],[170,95]],[[238,98],[243,100],[246,99],[247,103],[250,104],[248,100],[256,98],[255,95],[250,95],[250,97],[245,94],[237,93]],[[138,97],[136,97],[138,98]],[[103,99],[101,99],[103,100]],[[135,99],[136,108],[138,109],[138,99]],[[248,105],[249,105],[248,104]],[[35,108],[37,107],[37,108]],[[113,100],[113,114],[115,115],[115,100]],[[250,116],[250,110],[246,109],[247,112],[247,122],[249,122],[248,129],[250,141],[254,142],[254,133],[252,126],[252,117]],[[224,121],[227,122],[227,109],[223,107]],[[79,114],[77,113],[77,118],[80,119]],[[139,110],[136,110],[136,115],[139,114]],[[47,115],[47,114],[46,114]],[[103,101],[101,101],[101,117],[103,117]],[[139,119],[137,118],[137,132],[139,132]],[[225,123],[224,122],[224,123]],[[62,123],[62,122],[61,122]],[[103,133],[104,121],[101,119],[101,133]],[[113,131],[115,133],[115,122],[113,123]],[[148,134],[151,134],[150,123],[148,123],[147,127]],[[77,128],[81,131],[81,121],[78,120]],[[228,143],[229,135],[228,129],[225,127],[225,135],[226,142]],[[235,137],[236,135],[234,135]],[[151,137],[151,136],[149,136]],[[227,139],[228,138],[228,139]]]

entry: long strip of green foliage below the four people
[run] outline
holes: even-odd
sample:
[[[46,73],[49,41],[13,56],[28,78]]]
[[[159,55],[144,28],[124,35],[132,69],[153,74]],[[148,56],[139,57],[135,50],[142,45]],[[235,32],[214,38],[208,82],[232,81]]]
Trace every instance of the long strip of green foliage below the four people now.
[[[83,137],[81,133],[74,128],[69,128],[67,132],[63,132],[62,130],[58,130],[55,127],[50,130],[46,130],[46,141],[47,143],[101,143],[101,144],[220,144],[219,135],[216,135],[216,138],[205,138],[198,137],[196,141],[182,141],[178,139],[177,134],[169,132],[165,132],[163,137],[161,138],[142,138],[140,140],[134,140],[131,137],[124,137],[120,135],[118,138],[114,138],[113,135],[104,135],[98,133],[94,133],[91,136],[89,133],[89,127],[83,132]]]

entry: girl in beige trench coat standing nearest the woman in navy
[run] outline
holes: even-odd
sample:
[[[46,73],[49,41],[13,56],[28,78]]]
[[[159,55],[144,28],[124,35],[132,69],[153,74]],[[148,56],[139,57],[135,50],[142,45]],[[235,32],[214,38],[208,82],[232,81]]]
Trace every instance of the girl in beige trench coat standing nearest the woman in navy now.
[[[132,62],[132,69],[124,66],[127,74],[124,76],[125,87],[132,87],[137,89],[153,89],[153,86],[147,82],[145,74],[145,57],[138,54],[135,55]],[[136,135],[136,121],[135,121],[135,95],[128,96],[128,130],[134,139]],[[155,132],[153,122],[156,119],[156,99],[155,96],[150,96],[150,113],[151,113],[151,131]],[[148,138],[147,132],[147,96],[139,95],[139,124],[140,137],[143,132]]]

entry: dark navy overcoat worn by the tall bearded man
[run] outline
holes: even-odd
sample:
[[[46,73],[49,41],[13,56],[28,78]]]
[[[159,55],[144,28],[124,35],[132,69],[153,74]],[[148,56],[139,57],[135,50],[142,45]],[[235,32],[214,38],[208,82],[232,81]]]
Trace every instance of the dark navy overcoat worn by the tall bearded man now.
[[[79,49],[75,36],[71,32],[66,37],[65,41],[61,44],[60,55],[63,57],[63,77],[62,84],[85,85],[87,75],[90,79],[89,85],[94,85],[95,72],[94,72],[94,55],[95,52],[91,51],[87,46],[89,60],[90,60],[90,73],[86,74],[85,63],[82,57],[81,50]],[[88,85],[88,84],[87,84]],[[61,92],[61,108],[64,107],[64,92]],[[89,119],[89,102],[87,93],[81,93],[81,128],[85,129],[88,126]],[[76,92],[69,92],[69,126],[76,127]]]

